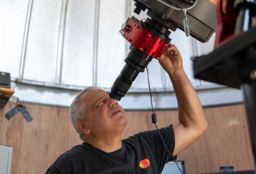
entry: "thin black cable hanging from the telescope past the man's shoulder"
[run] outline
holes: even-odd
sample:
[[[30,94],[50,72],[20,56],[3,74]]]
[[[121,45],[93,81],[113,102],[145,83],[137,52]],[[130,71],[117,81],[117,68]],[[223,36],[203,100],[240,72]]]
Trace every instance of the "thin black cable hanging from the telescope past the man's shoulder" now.
[[[142,19],[142,20],[145,20],[145,19]],[[149,73],[148,73],[148,66],[147,66],[147,63],[146,63],[146,57],[145,57],[145,40],[144,40],[144,27],[143,27],[143,22],[142,20],[140,21],[141,22],[141,29],[142,29],[142,39],[143,39],[143,57],[144,57],[144,60],[145,60],[145,66],[146,66],[146,69],[147,69],[147,76],[148,76],[148,88],[149,88],[149,94],[150,94],[150,101],[151,101],[151,108],[152,108],[152,122],[155,124],[156,126],[156,114],[154,113],[154,108],[153,108],[153,102],[152,102],[152,94],[151,94],[151,89],[150,89],[150,83],[149,83]],[[177,161],[175,160],[175,158],[173,157],[173,155],[171,154],[171,152],[168,150],[165,142],[164,142],[164,138],[162,137],[158,127],[156,126],[156,129],[157,129],[157,132],[158,134],[160,135],[162,141],[163,141],[163,144],[164,144],[164,147],[166,149],[166,151],[170,154],[171,158],[173,159],[173,161],[175,162],[175,164],[177,165],[177,167],[179,168],[180,172],[183,174],[183,172],[181,171]]]

